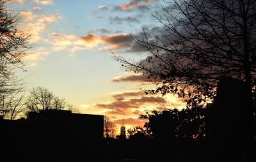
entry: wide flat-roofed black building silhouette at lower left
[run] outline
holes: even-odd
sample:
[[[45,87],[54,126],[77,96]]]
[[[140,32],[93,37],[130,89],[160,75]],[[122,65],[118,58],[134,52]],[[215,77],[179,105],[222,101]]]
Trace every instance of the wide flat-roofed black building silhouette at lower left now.
[[[84,161],[102,153],[102,115],[42,110],[28,119],[1,120],[0,128],[6,139],[1,153],[19,161]]]

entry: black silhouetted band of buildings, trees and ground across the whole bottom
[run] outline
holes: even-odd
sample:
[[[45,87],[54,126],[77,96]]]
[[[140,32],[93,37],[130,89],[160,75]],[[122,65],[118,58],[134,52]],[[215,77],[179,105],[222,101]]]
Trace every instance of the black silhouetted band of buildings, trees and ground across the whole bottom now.
[[[26,119],[2,118],[2,158],[4,161],[255,161],[255,114],[251,126],[243,86],[240,80],[222,77],[217,96],[207,107],[194,103],[182,110],[147,112],[140,115],[148,119],[143,128],[129,129],[128,138],[113,138],[113,123],[102,115],[47,109],[29,112]],[[110,125],[105,127],[104,121]]]

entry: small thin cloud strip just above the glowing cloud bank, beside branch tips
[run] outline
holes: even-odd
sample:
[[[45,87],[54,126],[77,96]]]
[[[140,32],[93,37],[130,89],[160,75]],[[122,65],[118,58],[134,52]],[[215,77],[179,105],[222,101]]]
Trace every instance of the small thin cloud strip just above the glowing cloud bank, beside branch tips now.
[[[112,82],[146,82],[147,76],[146,75],[129,75],[125,77],[115,77],[113,78]]]

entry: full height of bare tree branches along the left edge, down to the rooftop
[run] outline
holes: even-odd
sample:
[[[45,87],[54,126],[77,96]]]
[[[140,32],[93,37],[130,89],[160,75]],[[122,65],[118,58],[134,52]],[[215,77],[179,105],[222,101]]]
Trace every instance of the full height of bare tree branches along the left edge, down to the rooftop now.
[[[0,114],[14,119],[23,112],[24,86],[13,70],[22,68],[22,57],[31,45],[30,35],[19,29],[19,12],[7,6],[8,0],[0,0]]]

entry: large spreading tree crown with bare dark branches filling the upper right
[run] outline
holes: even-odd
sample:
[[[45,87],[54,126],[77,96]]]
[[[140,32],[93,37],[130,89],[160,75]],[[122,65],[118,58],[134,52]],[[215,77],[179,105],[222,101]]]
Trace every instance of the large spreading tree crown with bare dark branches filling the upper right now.
[[[153,15],[163,29],[144,30],[134,40],[148,52],[140,62],[113,57],[129,70],[144,73],[159,85],[147,92],[184,92],[212,96],[223,75],[255,86],[256,2],[250,0],[168,1],[163,14]],[[179,91],[180,89],[180,91]],[[249,94],[250,93],[250,94]]]

